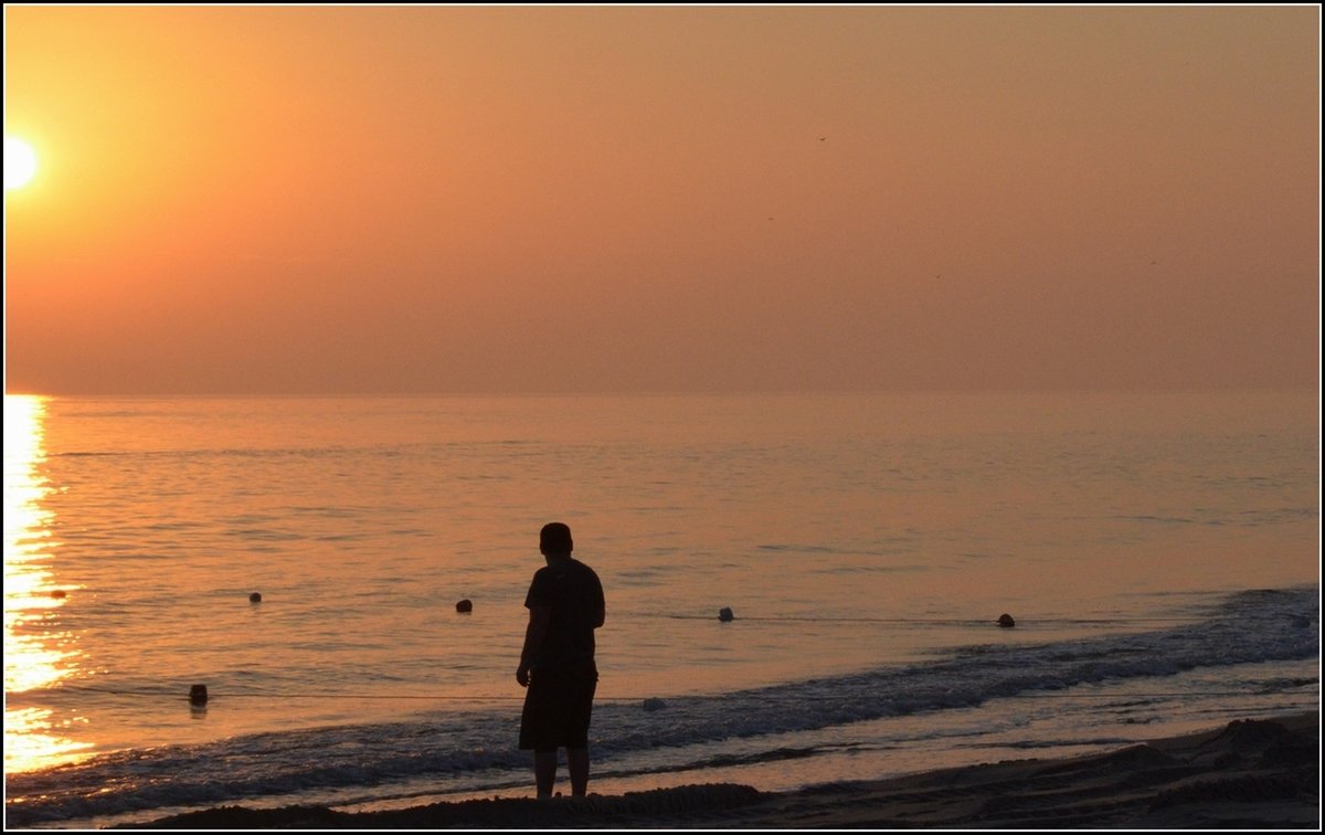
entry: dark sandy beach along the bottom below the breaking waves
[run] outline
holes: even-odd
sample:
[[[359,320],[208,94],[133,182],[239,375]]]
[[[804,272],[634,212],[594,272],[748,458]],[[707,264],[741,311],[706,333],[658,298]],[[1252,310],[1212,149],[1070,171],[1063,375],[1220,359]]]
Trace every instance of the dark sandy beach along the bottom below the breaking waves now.
[[[762,793],[733,783],[347,814],[225,806],[135,828],[1308,828],[1320,716],[1242,720],[1068,759],[1015,759]]]

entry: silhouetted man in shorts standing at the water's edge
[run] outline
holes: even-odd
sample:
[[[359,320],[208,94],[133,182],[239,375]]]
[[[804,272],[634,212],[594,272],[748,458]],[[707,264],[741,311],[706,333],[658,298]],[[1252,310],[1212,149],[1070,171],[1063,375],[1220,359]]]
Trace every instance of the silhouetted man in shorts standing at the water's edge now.
[[[529,627],[515,680],[529,688],[519,721],[519,748],[534,752],[534,783],[539,798],[553,797],[556,749],[566,749],[571,794],[588,789],[588,721],[598,688],[594,630],[603,626],[607,607],[598,574],[571,558],[571,529],[560,522],[543,526],[538,550],[547,566],[534,574],[525,606]]]

